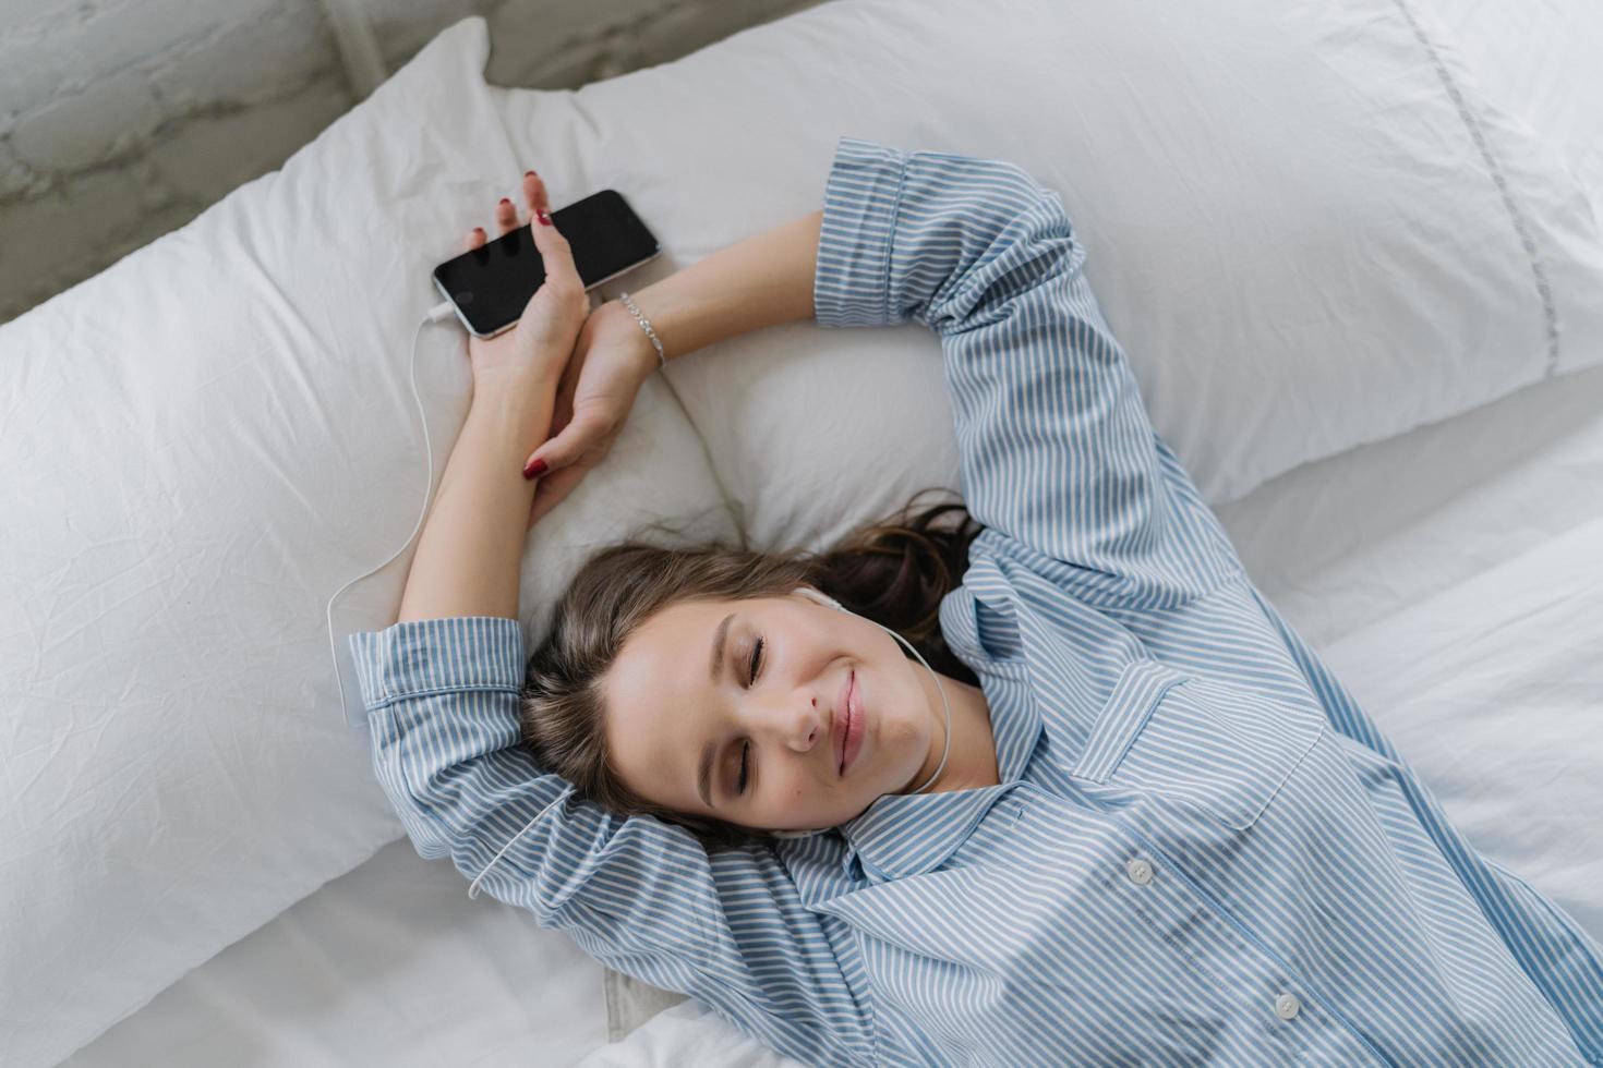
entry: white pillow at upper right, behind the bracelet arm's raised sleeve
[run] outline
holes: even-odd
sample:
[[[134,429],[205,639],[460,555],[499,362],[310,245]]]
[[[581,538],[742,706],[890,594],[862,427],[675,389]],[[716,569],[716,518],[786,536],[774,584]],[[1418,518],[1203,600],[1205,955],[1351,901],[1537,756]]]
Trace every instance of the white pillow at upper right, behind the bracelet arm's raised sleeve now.
[[[1156,429],[1220,504],[1603,355],[1590,202],[1427,14],[829,3],[571,101],[510,93],[507,128],[577,146],[577,187],[633,191],[684,261],[816,210],[842,133],[1023,165],[1061,194]],[[720,347],[670,378],[755,543],[960,488],[923,327]]]

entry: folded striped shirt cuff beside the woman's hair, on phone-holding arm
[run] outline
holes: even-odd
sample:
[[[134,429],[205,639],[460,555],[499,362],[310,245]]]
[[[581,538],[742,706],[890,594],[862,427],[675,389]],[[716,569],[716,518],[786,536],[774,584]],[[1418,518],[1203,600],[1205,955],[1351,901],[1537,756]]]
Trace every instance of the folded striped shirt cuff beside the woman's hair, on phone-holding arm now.
[[[442,690],[516,693],[524,681],[523,624],[507,616],[407,620],[346,642],[367,711]]]

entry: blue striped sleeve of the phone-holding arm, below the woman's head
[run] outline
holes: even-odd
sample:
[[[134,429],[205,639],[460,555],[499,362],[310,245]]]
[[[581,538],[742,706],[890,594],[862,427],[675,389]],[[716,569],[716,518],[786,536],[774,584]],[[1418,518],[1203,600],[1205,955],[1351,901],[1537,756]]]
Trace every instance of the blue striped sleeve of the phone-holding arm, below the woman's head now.
[[[709,857],[684,828],[619,818],[535,764],[516,620],[410,620],[349,645],[373,770],[420,857],[476,879],[500,853],[484,892],[604,966],[699,998],[795,1060],[872,1062],[872,1017],[830,937],[851,935],[826,930],[768,844]]]

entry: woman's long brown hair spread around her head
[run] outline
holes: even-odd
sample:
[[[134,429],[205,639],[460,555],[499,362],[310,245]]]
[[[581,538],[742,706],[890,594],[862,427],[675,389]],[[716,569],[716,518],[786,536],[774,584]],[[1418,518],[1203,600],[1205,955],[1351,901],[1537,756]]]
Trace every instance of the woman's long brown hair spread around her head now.
[[[601,676],[635,628],[672,604],[782,597],[811,586],[901,634],[941,674],[978,685],[941,636],[939,604],[962,583],[968,543],[981,527],[960,503],[914,516],[919,496],[826,552],[753,552],[718,543],[665,549],[630,540],[593,554],[556,604],[550,637],[529,658],[523,745],[542,770],[572,783],[580,797],[620,817],[654,815],[683,826],[709,853],[769,841],[766,831],[676,812],[628,789],[608,762]],[[959,522],[938,527],[947,514]]]

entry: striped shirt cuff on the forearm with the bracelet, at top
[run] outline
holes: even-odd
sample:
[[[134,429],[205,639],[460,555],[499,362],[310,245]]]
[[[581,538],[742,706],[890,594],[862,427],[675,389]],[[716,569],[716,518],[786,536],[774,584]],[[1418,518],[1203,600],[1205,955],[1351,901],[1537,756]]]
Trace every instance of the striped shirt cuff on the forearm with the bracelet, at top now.
[[[888,327],[906,315],[891,307],[891,235],[907,155],[840,138],[824,184],[824,218],[813,274],[813,319],[821,327]]]

